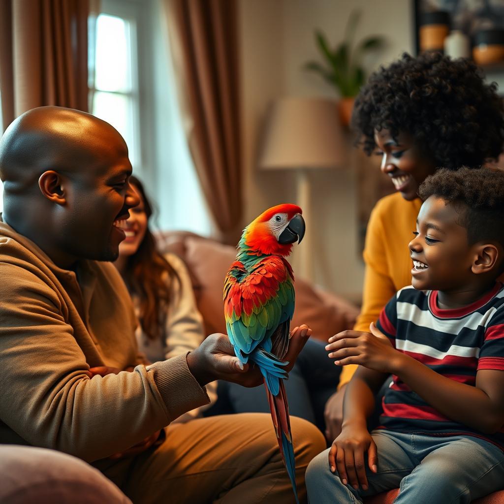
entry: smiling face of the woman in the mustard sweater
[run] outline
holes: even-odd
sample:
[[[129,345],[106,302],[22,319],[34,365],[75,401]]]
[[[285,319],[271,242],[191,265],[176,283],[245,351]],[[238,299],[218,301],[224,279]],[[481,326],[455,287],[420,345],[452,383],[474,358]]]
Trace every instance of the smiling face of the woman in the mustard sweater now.
[[[435,171],[434,163],[422,154],[413,137],[400,133],[393,138],[389,130],[374,132],[374,142],[382,156],[381,170],[391,177],[396,191],[408,201],[418,197],[418,186]]]

